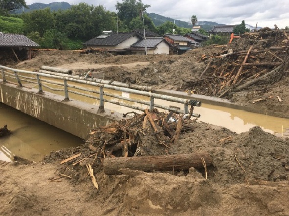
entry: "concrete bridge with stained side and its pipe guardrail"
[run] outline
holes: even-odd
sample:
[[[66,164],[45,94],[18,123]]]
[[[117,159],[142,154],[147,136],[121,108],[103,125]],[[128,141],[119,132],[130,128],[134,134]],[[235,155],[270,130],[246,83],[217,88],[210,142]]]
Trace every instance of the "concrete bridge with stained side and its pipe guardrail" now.
[[[112,123],[113,121],[119,120],[122,118],[122,115],[120,113],[114,112],[111,114],[110,110],[106,110],[104,108],[104,101],[114,103],[120,106],[126,106],[126,107],[144,111],[144,108],[141,108],[141,107],[133,107],[133,106],[120,103],[120,102],[115,102],[112,100],[109,101],[107,99],[104,99],[104,95],[108,95],[110,97],[116,97],[119,99],[125,99],[128,101],[133,101],[137,103],[142,103],[146,105],[147,107],[149,107],[150,109],[157,107],[157,108],[164,108],[167,110],[173,110],[178,113],[188,113],[188,106],[190,105],[190,103],[195,103],[193,106],[201,105],[201,103],[196,100],[181,99],[181,98],[176,98],[172,96],[142,91],[143,89],[148,88],[145,86],[134,86],[135,88],[141,89],[141,90],[137,90],[137,89],[121,87],[121,86],[127,85],[123,83],[117,83],[117,82],[110,83],[112,85],[108,85],[105,83],[97,83],[96,81],[98,80],[80,79],[79,77],[72,76],[69,73],[64,74],[64,71],[62,71],[62,73],[56,73],[53,71],[46,71],[47,73],[43,73],[45,71],[40,70],[42,73],[38,73],[38,72],[23,71],[23,70],[8,68],[5,66],[0,66],[0,68],[2,72],[1,74],[2,77],[0,77],[2,78],[0,79],[0,102],[10,107],[13,107],[15,109],[18,109],[22,111],[23,113],[26,113],[50,125],[53,125],[59,129],[65,130],[73,135],[81,137],[83,139],[85,139],[87,134],[89,134],[89,132],[92,129],[98,128],[99,126],[108,125]],[[23,73],[25,76],[20,75],[21,73]],[[31,76],[28,77],[27,75],[33,75],[33,76],[36,76],[37,78],[32,78]],[[51,79],[45,80],[45,78],[58,79],[64,82],[64,84],[56,83],[55,81],[51,81]],[[17,83],[15,82],[15,80],[17,81]],[[98,86],[100,90],[91,90],[91,89],[84,88],[84,87],[68,85],[67,81],[76,82],[80,84],[86,84],[86,85],[92,85],[92,86]],[[45,86],[43,84],[44,82],[50,83],[53,85],[63,86],[65,97],[58,95],[58,94],[46,92],[46,91],[43,92],[42,86]],[[105,82],[105,81],[101,81],[101,82]],[[107,82],[111,82],[111,81],[107,81]],[[35,87],[29,87],[29,83],[32,83],[33,86],[38,85],[39,88],[37,89]],[[46,86],[46,87],[51,88],[49,86]],[[93,93],[98,93],[99,97],[87,95],[85,93],[79,93],[73,90],[68,90],[68,87],[78,88],[78,89],[84,90],[84,92],[91,91]],[[119,90],[119,91],[126,91],[129,93],[145,95],[145,96],[150,97],[150,102],[144,102],[144,101],[139,101],[137,99],[111,95],[103,91],[104,87],[111,88],[114,90]],[[59,90],[59,89],[54,89],[54,90]],[[145,90],[150,90],[150,89],[145,89]],[[69,100],[68,92],[77,93],[83,96],[88,96],[91,98],[98,99],[100,100],[100,106],[97,107],[95,105],[84,103],[81,101]],[[162,98],[164,100],[181,103],[184,105],[184,109],[181,110],[181,109],[176,109],[176,108],[165,107],[162,105],[156,105],[154,103],[154,98]]]

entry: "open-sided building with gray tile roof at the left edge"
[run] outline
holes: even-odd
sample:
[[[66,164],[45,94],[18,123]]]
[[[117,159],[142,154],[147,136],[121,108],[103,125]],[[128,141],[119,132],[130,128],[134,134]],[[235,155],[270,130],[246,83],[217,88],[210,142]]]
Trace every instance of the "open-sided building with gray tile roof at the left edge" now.
[[[17,61],[31,59],[31,48],[37,46],[37,43],[24,35],[0,32],[0,52],[12,51]]]

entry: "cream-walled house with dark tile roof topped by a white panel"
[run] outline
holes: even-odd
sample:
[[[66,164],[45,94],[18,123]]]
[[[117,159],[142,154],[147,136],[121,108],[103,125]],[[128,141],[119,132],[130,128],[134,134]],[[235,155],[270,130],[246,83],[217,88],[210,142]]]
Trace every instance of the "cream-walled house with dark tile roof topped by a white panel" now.
[[[129,54],[128,50],[133,43],[141,40],[141,37],[134,32],[112,33],[107,37],[95,37],[85,42],[84,45],[89,48],[106,49],[114,55]]]

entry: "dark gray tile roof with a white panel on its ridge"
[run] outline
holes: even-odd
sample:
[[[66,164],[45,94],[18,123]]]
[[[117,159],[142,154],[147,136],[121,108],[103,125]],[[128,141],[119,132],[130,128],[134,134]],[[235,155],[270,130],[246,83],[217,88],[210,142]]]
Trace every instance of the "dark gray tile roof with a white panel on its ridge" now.
[[[125,32],[125,33],[115,33],[106,38],[92,38],[89,41],[85,42],[85,45],[99,45],[99,46],[115,46],[130,37],[133,37],[135,33]]]

